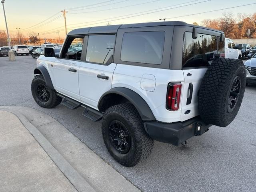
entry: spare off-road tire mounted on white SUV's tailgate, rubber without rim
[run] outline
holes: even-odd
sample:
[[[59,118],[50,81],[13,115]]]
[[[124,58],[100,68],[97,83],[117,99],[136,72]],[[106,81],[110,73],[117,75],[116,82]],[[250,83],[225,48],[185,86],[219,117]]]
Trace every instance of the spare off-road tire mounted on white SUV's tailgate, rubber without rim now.
[[[234,80],[240,78],[240,93],[232,112],[228,112],[228,99]],[[242,60],[219,58],[212,61],[198,92],[198,109],[204,122],[220,127],[230,124],[241,106],[246,84],[246,71]]]

